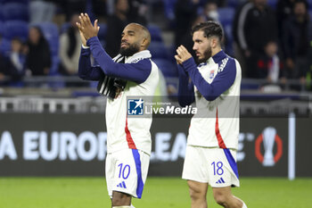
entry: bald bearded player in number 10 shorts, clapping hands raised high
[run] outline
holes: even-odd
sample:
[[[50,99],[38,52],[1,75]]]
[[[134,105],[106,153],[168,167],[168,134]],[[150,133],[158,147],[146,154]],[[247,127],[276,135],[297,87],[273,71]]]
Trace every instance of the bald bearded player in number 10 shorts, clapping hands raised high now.
[[[99,80],[98,90],[108,96],[106,103],[107,157],[105,175],[112,207],[134,207],[132,197],[141,198],[152,149],[151,118],[128,118],[128,96],[153,96],[158,85],[158,67],[147,47],[148,29],[130,23],[121,34],[119,55],[106,54],[97,37],[99,27],[81,13],[78,28],[83,46],[78,76]],[[99,64],[92,66],[90,54]],[[142,99],[136,105],[142,104]]]

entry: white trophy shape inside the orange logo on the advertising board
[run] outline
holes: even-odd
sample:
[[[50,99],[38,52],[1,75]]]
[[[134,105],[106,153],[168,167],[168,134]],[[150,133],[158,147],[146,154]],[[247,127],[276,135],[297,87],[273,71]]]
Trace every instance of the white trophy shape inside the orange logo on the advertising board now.
[[[273,147],[275,143],[276,129],[272,127],[267,127],[262,132],[263,135],[263,146],[265,149],[265,154],[262,164],[264,166],[273,166],[275,164]]]

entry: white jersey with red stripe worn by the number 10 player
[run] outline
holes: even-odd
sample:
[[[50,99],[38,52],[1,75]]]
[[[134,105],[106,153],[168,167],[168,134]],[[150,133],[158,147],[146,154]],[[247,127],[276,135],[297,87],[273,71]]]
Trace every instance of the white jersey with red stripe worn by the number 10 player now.
[[[152,67],[149,77],[141,84],[127,81],[125,89],[115,99],[107,99],[106,127],[107,127],[107,152],[113,153],[121,149],[139,149],[146,154],[151,154],[151,118],[128,118],[128,96],[153,96],[159,82],[157,65],[152,62],[148,50],[141,51],[127,57],[126,63],[136,63],[148,59],[146,67]]]

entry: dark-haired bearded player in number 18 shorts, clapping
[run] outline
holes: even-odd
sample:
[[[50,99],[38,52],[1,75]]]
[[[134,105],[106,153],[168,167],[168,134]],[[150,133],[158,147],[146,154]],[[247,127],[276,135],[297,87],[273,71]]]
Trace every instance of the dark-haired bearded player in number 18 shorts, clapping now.
[[[179,104],[195,102],[198,109],[189,129],[182,175],[187,179],[192,208],[207,207],[209,186],[221,206],[247,207],[231,192],[231,187],[239,187],[236,150],[241,67],[221,49],[222,38],[217,22],[201,22],[193,27],[193,50],[201,63],[196,65],[185,46],[179,46],[175,55]]]

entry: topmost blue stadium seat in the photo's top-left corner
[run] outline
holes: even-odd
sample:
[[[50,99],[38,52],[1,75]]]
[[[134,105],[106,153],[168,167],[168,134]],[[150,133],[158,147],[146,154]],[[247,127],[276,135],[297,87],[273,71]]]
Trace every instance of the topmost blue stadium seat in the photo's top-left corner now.
[[[4,21],[29,21],[29,7],[21,3],[6,3],[2,6]]]

